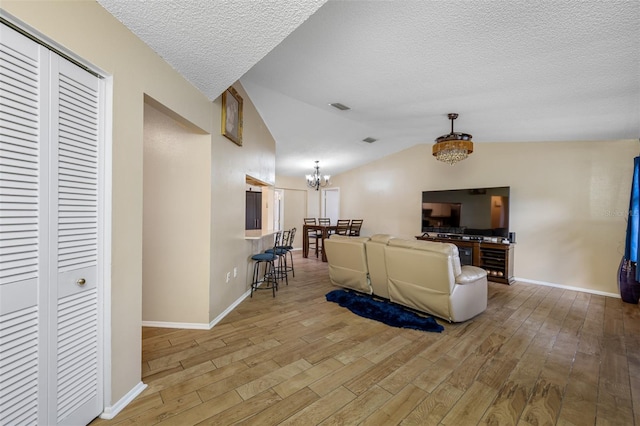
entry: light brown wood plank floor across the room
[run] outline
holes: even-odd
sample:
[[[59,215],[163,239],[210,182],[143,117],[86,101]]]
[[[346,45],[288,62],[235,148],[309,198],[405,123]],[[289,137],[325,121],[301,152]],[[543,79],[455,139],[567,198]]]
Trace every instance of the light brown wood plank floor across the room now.
[[[485,313],[425,333],[325,301],[315,257],[295,267],[212,330],[143,328],[148,388],[92,424],[640,426],[636,305],[490,283]]]

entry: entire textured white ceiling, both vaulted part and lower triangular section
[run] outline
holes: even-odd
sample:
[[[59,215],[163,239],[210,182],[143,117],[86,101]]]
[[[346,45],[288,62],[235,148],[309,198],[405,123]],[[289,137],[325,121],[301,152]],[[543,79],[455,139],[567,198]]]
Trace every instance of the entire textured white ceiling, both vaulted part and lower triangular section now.
[[[240,79],[278,174],[432,144],[449,112],[476,151],[640,137],[637,0],[99,1],[211,99]]]

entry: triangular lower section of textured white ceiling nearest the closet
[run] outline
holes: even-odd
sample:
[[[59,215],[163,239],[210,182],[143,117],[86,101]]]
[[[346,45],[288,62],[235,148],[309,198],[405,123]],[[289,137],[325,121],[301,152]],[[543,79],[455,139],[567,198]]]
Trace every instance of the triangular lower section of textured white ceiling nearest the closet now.
[[[216,99],[326,0],[98,0]]]

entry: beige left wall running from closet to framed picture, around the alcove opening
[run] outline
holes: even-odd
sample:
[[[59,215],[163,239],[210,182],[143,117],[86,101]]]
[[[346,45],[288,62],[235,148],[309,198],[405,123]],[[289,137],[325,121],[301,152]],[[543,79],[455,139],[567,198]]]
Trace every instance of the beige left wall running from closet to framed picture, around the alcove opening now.
[[[221,136],[220,98],[207,99],[93,0],[3,0],[2,8],[112,77],[110,406],[141,380],[145,94],[211,134],[208,319],[248,288],[242,267],[255,247],[244,240],[245,175],[275,181],[275,143],[241,87],[245,146]],[[239,276],[224,283],[223,274],[234,266]]]

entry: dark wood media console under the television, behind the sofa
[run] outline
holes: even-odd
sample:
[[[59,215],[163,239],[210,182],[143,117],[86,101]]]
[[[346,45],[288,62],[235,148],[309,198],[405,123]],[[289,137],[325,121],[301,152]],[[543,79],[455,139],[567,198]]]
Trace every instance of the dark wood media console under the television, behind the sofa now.
[[[486,270],[489,281],[503,284],[513,284],[515,281],[513,277],[514,244],[509,240],[499,237],[441,233],[430,236],[426,232],[417,236],[416,239],[455,244],[460,253],[460,263],[463,265],[473,265]]]

